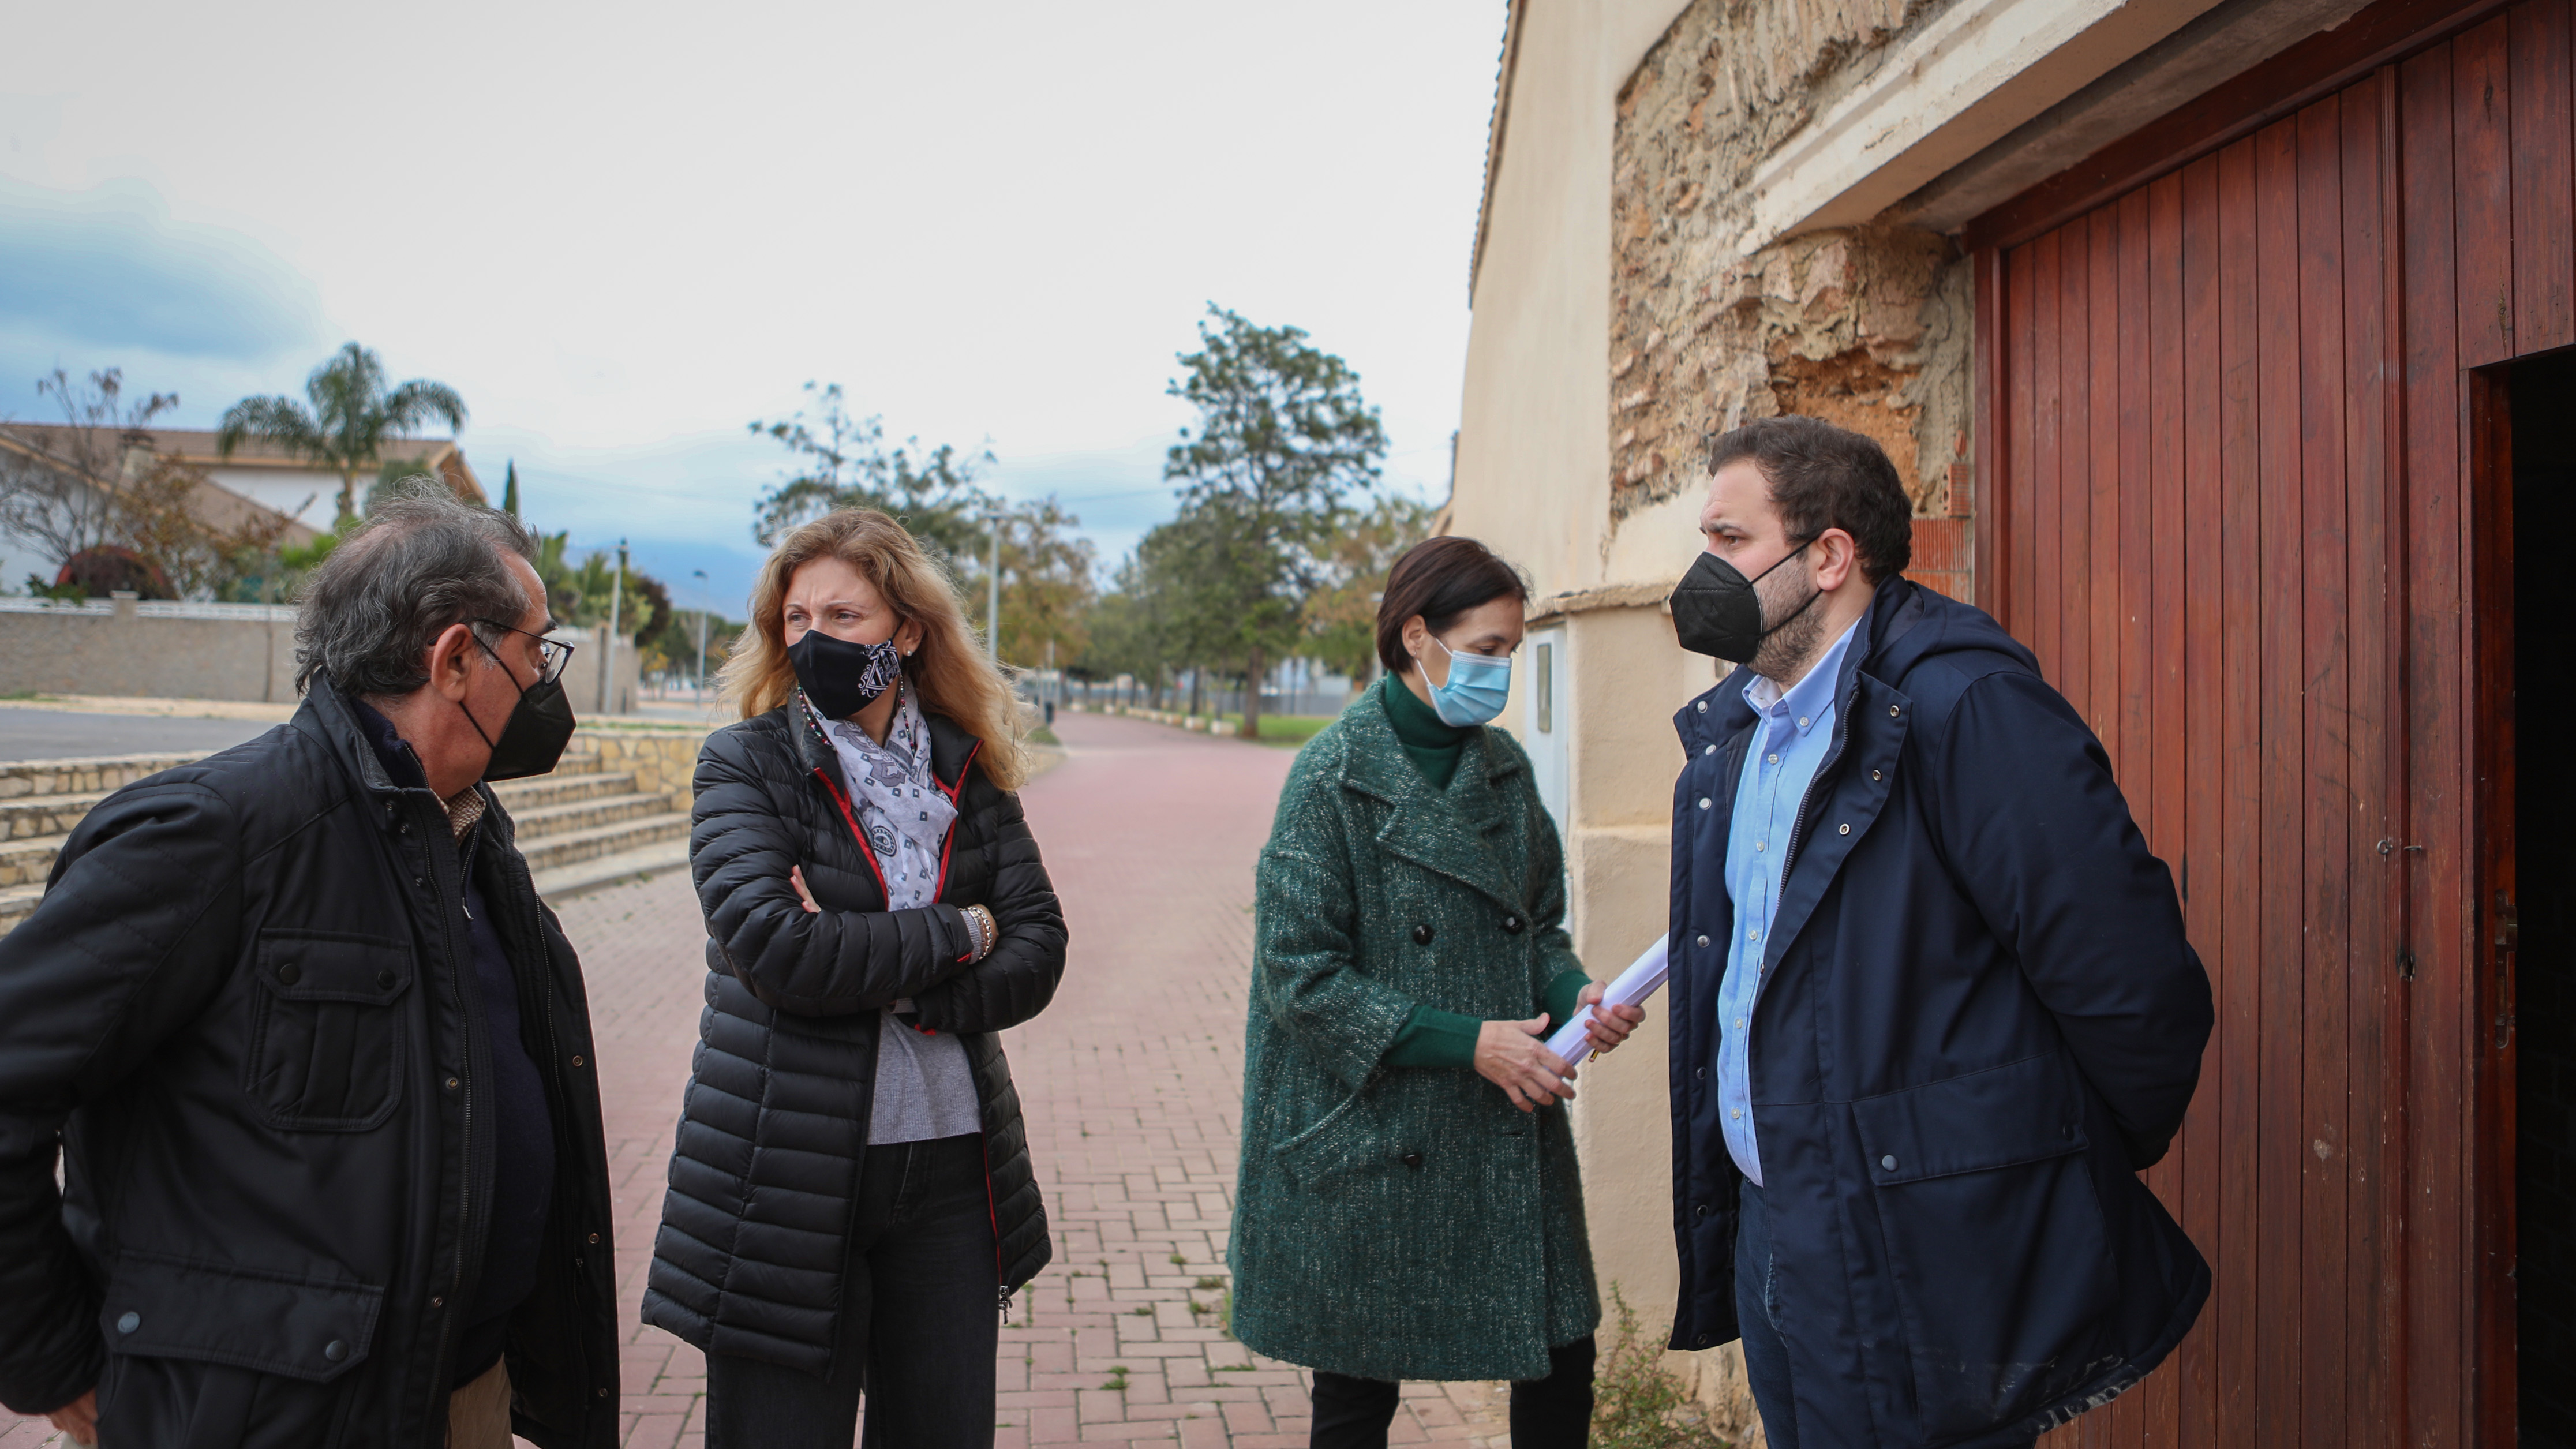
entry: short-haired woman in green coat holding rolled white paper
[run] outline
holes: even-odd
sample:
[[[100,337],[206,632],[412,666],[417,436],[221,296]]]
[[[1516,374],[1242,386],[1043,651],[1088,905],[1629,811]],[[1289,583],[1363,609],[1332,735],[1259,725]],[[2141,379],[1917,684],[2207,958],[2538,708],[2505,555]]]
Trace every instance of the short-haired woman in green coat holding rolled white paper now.
[[[1399,1379],[1512,1379],[1512,1444],[1579,1449],[1600,1299],[1546,1034],[1600,1011],[1556,825],[1486,719],[1528,588],[1473,539],[1386,578],[1386,681],[1288,773],[1255,895],[1234,1336],[1314,1374],[1316,1449],[1383,1446]]]

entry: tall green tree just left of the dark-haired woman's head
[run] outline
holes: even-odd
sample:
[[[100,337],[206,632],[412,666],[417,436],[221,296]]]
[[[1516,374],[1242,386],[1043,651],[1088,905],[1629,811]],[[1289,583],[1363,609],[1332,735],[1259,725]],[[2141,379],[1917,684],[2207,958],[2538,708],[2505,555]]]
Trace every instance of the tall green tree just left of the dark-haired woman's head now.
[[[1198,407],[1162,474],[1180,485],[1193,590],[1190,637],[1244,673],[1244,735],[1260,735],[1260,681],[1306,634],[1306,598],[1342,500],[1378,487],[1386,428],[1350,366],[1301,327],[1260,327],[1208,304],[1200,351],[1170,394]]]

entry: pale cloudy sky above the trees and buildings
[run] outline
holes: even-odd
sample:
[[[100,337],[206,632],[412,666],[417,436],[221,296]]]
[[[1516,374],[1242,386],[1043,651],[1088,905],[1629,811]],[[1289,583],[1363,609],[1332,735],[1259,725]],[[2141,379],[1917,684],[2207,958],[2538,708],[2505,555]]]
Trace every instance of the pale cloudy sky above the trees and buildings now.
[[[1448,492],[1502,0],[21,8],[0,418],[118,366],[211,428],[343,340],[464,394],[577,549],[739,616],[750,436],[840,382],[1113,565],[1211,302],[1296,325]],[[696,578],[706,570],[706,580]]]

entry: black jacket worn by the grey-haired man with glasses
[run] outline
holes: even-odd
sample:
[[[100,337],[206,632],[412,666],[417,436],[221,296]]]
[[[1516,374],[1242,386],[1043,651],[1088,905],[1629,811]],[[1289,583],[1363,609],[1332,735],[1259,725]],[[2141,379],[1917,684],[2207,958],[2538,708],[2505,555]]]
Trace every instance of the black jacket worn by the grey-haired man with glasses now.
[[[477,830],[556,1132],[515,1428],[611,1446],[590,1008],[510,817]],[[0,938],[0,1403],[95,1385],[111,1449],[446,1439],[495,1145],[459,869],[446,807],[319,681],[289,724],[82,817]]]

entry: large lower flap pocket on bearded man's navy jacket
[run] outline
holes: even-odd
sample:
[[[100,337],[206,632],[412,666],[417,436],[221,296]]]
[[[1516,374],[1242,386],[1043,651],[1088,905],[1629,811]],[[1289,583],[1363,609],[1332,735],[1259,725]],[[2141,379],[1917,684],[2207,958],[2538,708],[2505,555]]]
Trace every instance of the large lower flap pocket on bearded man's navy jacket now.
[[[2117,1364],[2117,1279],[2056,1055],[1852,1104],[1929,1441],[2014,1423]]]

